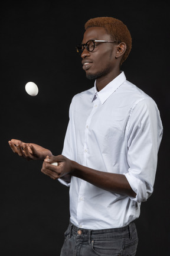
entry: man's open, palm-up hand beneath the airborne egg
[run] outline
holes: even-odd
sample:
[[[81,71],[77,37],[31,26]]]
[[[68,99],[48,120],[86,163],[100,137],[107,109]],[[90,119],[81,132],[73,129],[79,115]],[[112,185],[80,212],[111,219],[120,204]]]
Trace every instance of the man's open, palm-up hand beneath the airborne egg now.
[[[42,148],[34,143],[25,143],[17,139],[9,140],[8,143],[14,153],[17,153],[19,156],[22,156],[27,160],[44,161],[47,155],[53,155],[48,149]]]

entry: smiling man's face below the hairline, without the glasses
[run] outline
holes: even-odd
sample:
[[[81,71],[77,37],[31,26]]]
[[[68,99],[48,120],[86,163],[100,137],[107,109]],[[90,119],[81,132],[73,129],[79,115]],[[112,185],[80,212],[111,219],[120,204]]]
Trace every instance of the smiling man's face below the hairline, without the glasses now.
[[[82,43],[87,43],[89,40],[110,41],[112,39],[103,27],[91,27],[85,31]],[[96,42],[93,52],[88,52],[85,48],[81,57],[86,77],[89,79],[109,77],[116,65],[115,52],[114,43]]]

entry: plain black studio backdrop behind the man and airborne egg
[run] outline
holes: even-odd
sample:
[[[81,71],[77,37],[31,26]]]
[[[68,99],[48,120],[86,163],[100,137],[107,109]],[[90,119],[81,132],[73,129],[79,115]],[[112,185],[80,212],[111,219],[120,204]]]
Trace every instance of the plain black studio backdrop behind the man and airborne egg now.
[[[112,16],[133,39],[122,70],[158,104],[164,125],[155,190],[142,204],[138,256],[169,255],[168,1],[1,1],[1,247],[6,255],[60,255],[68,225],[68,188],[14,155],[8,140],[61,153],[74,94],[93,86],[76,44],[89,18]],[[39,93],[25,92],[29,81]]]

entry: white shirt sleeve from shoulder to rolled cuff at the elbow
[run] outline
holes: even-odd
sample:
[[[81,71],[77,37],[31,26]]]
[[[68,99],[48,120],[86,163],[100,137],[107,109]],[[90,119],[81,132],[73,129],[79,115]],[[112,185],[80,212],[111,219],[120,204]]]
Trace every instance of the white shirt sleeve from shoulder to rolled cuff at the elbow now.
[[[158,150],[162,139],[159,110],[151,99],[136,102],[128,121],[128,165],[126,176],[136,193],[134,201],[146,201],[153,192]]]

